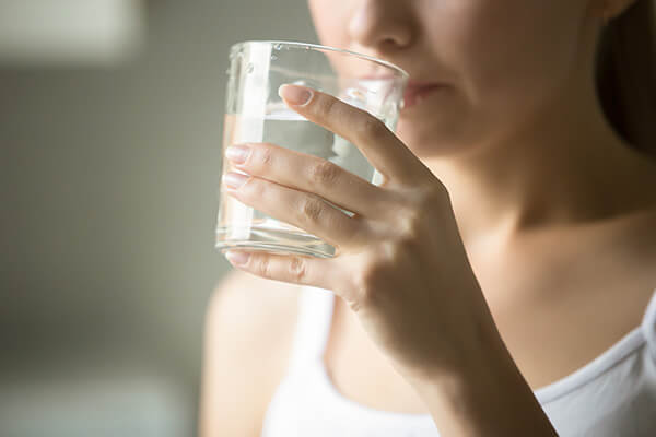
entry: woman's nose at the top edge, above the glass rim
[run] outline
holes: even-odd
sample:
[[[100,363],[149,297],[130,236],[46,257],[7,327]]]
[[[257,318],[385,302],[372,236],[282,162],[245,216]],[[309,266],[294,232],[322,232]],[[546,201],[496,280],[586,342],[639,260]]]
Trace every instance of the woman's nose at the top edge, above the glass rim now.
[[[354,43],[376,50],[402,47],[413,33],[411,1],[361,0],[351,13],[349,34]]]

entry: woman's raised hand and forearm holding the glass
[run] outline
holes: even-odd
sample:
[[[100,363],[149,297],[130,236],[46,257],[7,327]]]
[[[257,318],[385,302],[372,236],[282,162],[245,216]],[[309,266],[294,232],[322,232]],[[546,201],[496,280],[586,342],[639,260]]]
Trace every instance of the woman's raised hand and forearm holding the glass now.
[[[343,298],[423,395],[445,437],[554,435],[503,345],[446,187],[371,114],[317,90],[280,93],[309,121],[358,145],[384,178],[375,186],[278,144],[241,144],[245,155],[231,160],[246,176],[226,178],[227,193],[333,245],[336,256],[233,250],[233,265]]]

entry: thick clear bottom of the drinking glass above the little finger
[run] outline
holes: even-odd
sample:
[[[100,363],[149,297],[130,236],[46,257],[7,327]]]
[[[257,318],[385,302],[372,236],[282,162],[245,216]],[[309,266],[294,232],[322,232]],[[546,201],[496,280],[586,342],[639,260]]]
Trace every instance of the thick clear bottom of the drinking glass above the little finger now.
[[[314,235],[292,231],[250,227],[244,229],[247,239],[235,238],[235,229],[216,228],[216,250],[248,249],[282,255],[306,255],[317,258],[332,258],[335,247]],[[239,233],[241,234],[241,233]]]

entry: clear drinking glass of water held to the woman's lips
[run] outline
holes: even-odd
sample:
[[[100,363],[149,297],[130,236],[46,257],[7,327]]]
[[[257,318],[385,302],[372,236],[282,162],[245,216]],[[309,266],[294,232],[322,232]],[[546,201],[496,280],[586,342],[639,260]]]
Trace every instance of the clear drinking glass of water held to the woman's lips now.
[[[320,156],[364,180],[379,184],[380,174],[358,146],[290,109],[278,88],[294,83],[328,93],[368,111],[394,131],[408,73],[365,55],[294,42],[238,43],[231,48],[230,61],[222,156],[231,144],[269,142]],[[222,175],[226,172],[244,173],[224,157]],[[223,186],[219,191],[215,247],[319,258],[335,255],[331,245],[239,202],[226,194]]]

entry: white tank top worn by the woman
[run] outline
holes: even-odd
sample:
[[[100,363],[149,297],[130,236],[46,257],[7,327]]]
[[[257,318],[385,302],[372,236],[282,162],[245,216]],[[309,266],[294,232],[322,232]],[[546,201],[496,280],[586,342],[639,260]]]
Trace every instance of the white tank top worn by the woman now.
[[[288,373],[262,437],[438,437],[429,414],[368,408],[341,395],[324,365],[335,296],[304,286]],[[639,327],[594,361],[535,391],[561,437],[656,436],[656,291]]]

